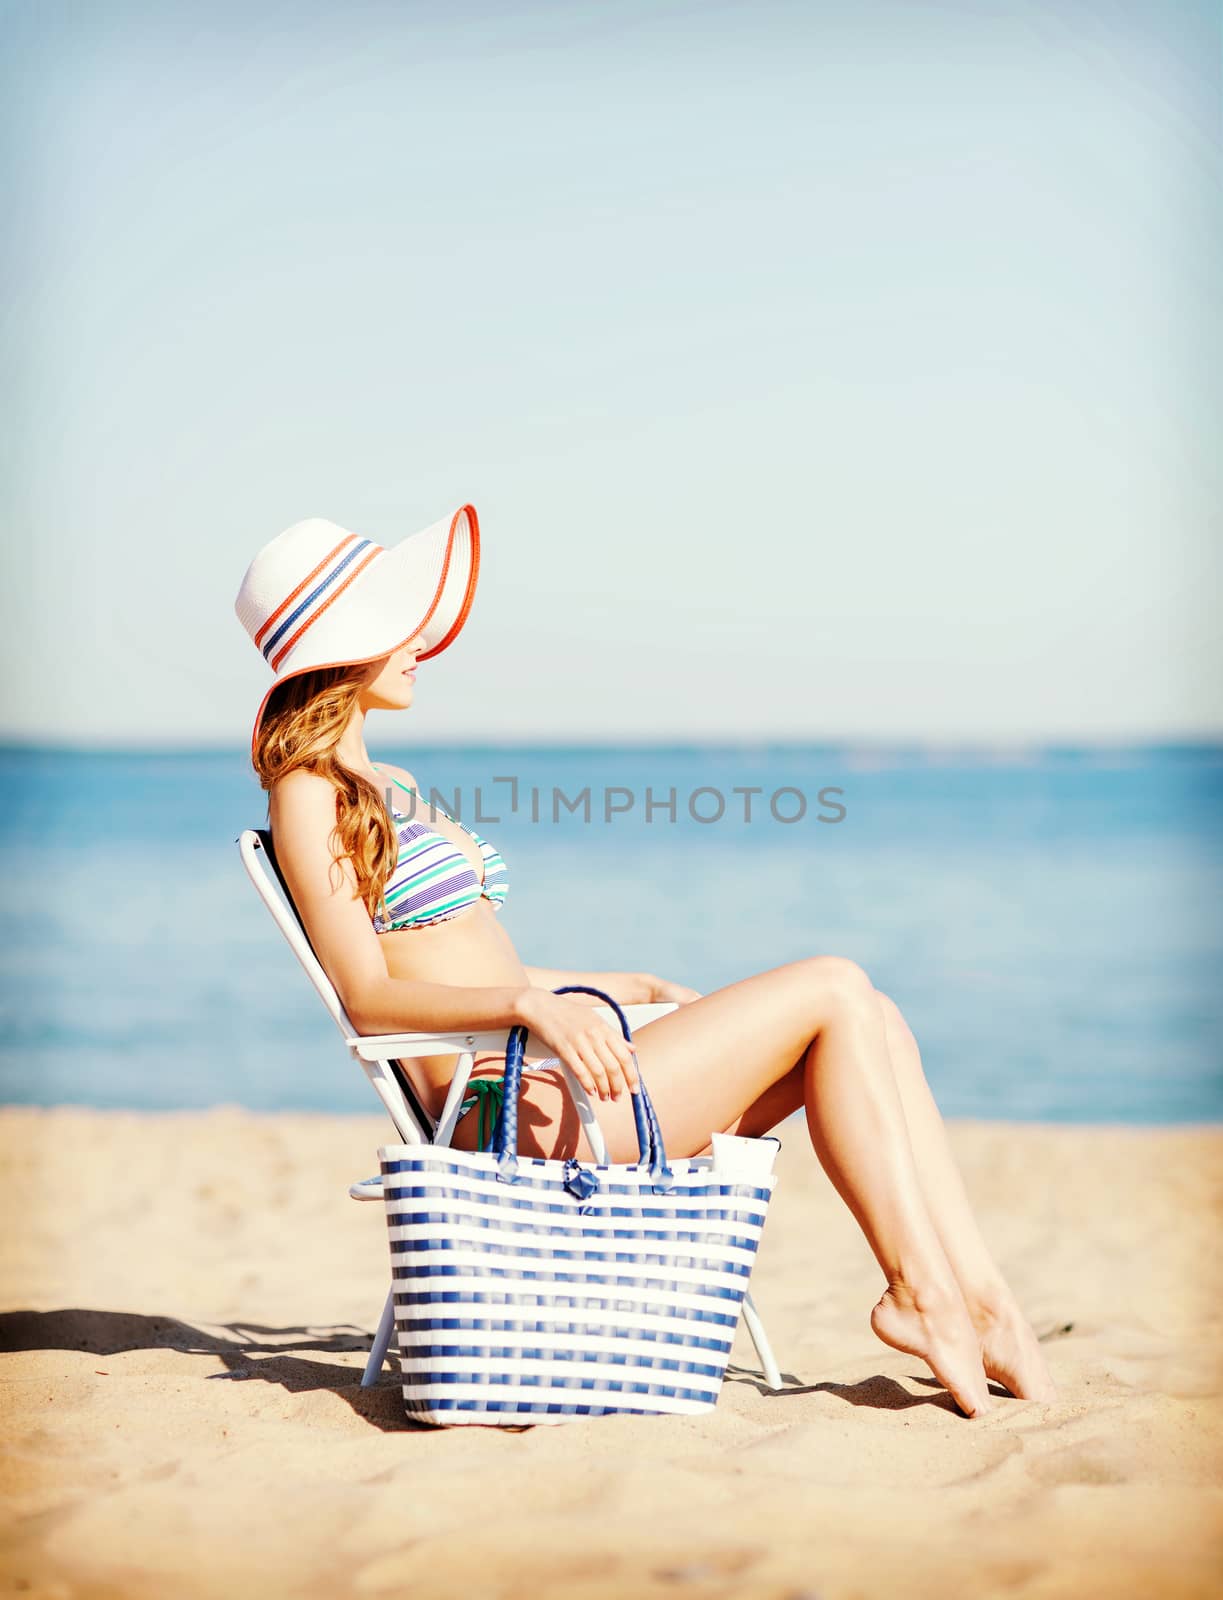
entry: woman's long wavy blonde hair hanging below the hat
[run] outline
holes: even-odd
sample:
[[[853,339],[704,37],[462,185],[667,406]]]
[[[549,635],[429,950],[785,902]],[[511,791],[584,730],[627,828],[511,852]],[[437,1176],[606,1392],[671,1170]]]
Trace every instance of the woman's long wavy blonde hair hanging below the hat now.
[[[386,803],[368,778],[354,773],[336,754],[357,704],[368,662],[317,667],[285,678],[272,690],[255,741],[259,784],[272,784],[303,768],[325,778],[336,790],[336,850],[333,866],[352,862],[357,894],[370,917],[386,912],[384,893],[399,859],[399,840]]]

